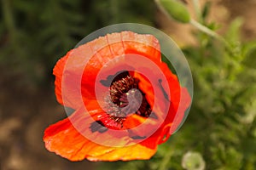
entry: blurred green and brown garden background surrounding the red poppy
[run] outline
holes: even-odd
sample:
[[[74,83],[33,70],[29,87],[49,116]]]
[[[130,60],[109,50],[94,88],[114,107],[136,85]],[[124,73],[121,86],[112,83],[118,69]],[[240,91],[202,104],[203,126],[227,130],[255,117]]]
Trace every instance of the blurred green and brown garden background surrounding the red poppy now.
[[[152,0],[0,4],[0,169],[256,169],[254,0],[187,0],[192,18],[228,47]],[[70,162],[49,153],[44,128],[66,116],[55,101],[55,62],[90,32],[122,22],[159,28],[183,49],[195,81],[188,119],[149,161]]]

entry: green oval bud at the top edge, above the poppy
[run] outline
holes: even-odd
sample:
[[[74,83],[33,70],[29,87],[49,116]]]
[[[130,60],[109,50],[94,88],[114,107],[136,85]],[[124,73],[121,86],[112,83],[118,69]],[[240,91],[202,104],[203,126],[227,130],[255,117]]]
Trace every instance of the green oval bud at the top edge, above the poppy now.
[[[183,3],[177,0],[159,0],[159,2],[174,20],[183,23],[188,23],[190,21],[189,10]]]

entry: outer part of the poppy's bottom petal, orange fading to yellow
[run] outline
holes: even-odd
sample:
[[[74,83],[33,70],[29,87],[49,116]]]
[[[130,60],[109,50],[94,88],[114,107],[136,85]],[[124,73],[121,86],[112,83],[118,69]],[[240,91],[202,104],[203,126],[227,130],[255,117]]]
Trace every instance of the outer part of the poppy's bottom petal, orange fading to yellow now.
[[[124,147],[96,144],[79,133],[69,118],[49,126],[44,132],[44,143],[49,151],[70,161],[81,161],[84,158],[90,161],[149,159],[156,151],[156,148],[152,150],[141,144]]]

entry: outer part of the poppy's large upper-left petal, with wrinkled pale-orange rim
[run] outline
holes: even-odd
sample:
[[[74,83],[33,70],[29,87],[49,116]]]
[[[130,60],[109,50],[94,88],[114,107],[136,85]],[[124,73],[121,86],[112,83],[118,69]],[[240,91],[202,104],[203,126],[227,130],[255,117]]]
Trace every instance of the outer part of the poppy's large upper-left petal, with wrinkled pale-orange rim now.
[[[121,33],[108,34],[105,37],[99,37],[92,42],[88,42],[74,48],[60,59],[54,68],[55,75],[55,94],[58,102],[73,109],[79,108],[81,101],[78,97],[80,92],[76,91],[76,86],[80,83],[79,72],[84,71],[82,77],[82,95],[84,100],[95,99],[94,82],[98,72],[102,69],[102,65],[124,54],[141,54],[148,58],[160,59],[160,46],[157,39],[151,35],[138,35],[131,31]],[[150,55],[150,56],[149,56]],[[88,62],[87,60],[90,59]],[[119,58],[120,59],[120,58]],[[112,60],[114,71],[117,71],[119,60]],[[87,65],[84,65],[87,63]],[[114,66],[115,65],[115,66]],[[111,65],[108,65],[111,67]],[[118,70],[121,70],[121,66]],[[63,72],[64,71],[64,72]],[[114,74],[115,72],[113,72]],[[63,76],[65,76],[63,78]],[[63,82],[63,79],[64,82]],[[90,79],[90,81],[88,81]],[[62,88],[64,83],[65,92]],[[93,95],[90,95],[93,94]]]

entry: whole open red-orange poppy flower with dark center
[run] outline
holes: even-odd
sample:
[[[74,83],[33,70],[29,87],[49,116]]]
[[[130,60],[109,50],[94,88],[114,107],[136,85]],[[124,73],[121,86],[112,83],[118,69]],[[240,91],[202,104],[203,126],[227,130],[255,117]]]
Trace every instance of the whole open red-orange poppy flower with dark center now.
[[[161,61],[158,40],[131,31],[74,48],[54,75],[58,102],[74,111],[45,130],[44,142],[71,161],[149,159],[191,100]]]

